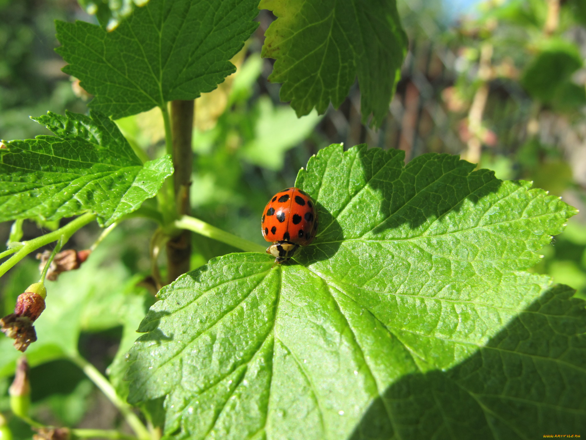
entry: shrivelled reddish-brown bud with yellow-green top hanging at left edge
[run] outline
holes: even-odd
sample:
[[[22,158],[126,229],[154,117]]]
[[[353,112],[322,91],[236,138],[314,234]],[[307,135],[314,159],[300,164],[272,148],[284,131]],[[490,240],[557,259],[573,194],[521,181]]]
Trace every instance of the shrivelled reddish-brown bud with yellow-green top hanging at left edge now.
[[[45,310],[47,290],[43,283],[32,284],[16,299],[14,313],[0,319],[2,330],[6,336],[14,340],[17,350],[25,351],[36,341],[36,332],[33,322]]]

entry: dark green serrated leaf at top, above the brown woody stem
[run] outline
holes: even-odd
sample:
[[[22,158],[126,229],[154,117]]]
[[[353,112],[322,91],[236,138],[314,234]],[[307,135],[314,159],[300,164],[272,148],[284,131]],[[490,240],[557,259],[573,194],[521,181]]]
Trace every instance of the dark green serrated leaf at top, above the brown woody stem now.
[[[195,99],[236,71],[231,57],[257,28],[254,0],[151,0],[113,32],[57,22],[63,71],[96,96],[90,107],[119,119]]]

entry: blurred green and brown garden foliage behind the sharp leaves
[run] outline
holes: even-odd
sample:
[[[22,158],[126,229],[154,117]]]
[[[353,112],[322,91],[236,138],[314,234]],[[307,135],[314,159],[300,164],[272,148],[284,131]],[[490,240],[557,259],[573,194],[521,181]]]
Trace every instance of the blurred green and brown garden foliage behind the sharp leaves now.
[[[61,72],[64,62],[53,52],[54,19],[115,28],[141,4],[0,0],[0,138],[48,134],[29,115],[87,110],[91,97]],[[267,199],[289,187],[299,168],[325,145],[400,148],[407,161],[430,151],[461,154],[499,178],[532,180],[581,209],[566,232],[543,249],[544,258],[533,270],[586,298],[586,2],[401,0],[399,6],[410,49],[379,131],[360,123],[356,85],[340,109],[330,108],[323,116],[314,112],[297,119],[278,101],[278,84],[267,82],[272,60],[260,58],[264,31],[274,16],[261,11],[257,32],[234,57],[237,72],[196,101],[192,214],[263,244],[259,220]],[[131,143],[152,157],[163,154],[158,109],[117,122]],[[56,227],[25,222],[23,239]],[[9,229],[0,224],[2,242]],[[39,341],[27,351],[33,416],[39,421],[125,429],[120,414],[64,357],[79,349],[124,395],[124,354],[155,300],[145,242],[154,230],[151,221],[129,219],[81,269],[48,283],[50,313],[37,321]],[[99,233],[97,226],[84,228],[68,246],[85,249]],[[237,249],[193,234],[192,268],[229,252]],[[25,260],[0,279],[5,314],[38,278],[37,266],[36,260]],[[12,344],[0,337],[4,414],[16,357]],[[8,422],[16,439],[30,438],[18,419],[8,417]]]

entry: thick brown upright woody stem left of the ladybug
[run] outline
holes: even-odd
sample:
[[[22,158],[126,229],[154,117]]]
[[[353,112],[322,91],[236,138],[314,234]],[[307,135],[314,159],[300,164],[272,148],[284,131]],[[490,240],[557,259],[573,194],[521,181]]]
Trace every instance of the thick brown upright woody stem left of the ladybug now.
[[[173,187],[175,192],[176,214],[178,217],[189,214],[189,187],[193,164],[192,133],[193,100],[171,101],[171,134],[173,148]],[[165,127],[167,128],[167,127]],[[187,230],[173,234],[166,246],[168,282],[189,271],[191,256],[191,234]]]

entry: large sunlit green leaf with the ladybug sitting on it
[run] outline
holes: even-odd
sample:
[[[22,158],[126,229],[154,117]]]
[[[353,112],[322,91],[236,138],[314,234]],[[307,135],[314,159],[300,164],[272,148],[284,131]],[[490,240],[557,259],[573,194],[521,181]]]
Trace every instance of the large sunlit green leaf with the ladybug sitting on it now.
[[[295,182],[319,209],[314,243],[291,264],[235,253],[164,287],[129,400],[166,396],[175,438],[580,432],[584,303],[523,272],[576,211],[474,168],[319,151]]]

